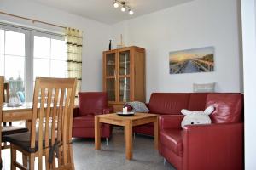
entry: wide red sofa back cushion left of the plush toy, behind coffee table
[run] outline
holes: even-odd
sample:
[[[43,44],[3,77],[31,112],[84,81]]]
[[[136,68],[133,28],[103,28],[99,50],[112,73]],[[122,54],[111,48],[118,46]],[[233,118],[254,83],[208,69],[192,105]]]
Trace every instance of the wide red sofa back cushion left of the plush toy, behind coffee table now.
[[[189,94],[182,93],[153,93],[148,109],[150,113],[176,115],[182,109],[188,108]]]

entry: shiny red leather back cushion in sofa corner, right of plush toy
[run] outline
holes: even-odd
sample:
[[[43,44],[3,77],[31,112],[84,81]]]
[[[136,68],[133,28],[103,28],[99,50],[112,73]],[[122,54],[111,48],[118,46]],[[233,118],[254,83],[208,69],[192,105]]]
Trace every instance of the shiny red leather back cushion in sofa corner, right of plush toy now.
[[[241,122],[242,94],[208,94],[206,107],[215,110],[210,115],[213,123]]]

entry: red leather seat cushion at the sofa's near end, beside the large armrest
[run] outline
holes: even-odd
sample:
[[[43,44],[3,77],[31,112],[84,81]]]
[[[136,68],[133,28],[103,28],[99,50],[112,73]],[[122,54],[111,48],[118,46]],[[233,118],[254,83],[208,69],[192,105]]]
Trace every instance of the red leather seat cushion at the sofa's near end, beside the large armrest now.
[[[183,156],[183,130],[164,129],[160,131],[160,143],[178,156]]]

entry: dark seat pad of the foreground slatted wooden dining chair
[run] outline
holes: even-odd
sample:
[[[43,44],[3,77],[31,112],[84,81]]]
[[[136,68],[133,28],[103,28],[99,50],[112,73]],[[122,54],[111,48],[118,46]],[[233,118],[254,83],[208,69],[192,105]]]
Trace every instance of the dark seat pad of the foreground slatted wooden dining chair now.
[[[30,147],[30,132],[26,133],[16,133],[3,136],[3,140],[5,142],[9,142],[10,144],[14,144],[15,146],[19,146],[23,150],[29,153],[35,153],[38,151],[38,133],[36,135],[36,144],[35,148]],[[45,141],[43,140],[43,148],[45,149]],[[51,144],[51,139],[49,139],[49,145]]]

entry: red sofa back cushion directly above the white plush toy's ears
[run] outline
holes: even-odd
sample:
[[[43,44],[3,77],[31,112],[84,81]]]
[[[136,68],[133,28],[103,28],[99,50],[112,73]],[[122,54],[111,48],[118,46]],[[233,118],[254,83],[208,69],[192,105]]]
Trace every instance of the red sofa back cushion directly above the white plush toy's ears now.
[[[206,109],[207,93],[192,93],[189,96],[190,111],[204,111]]]

